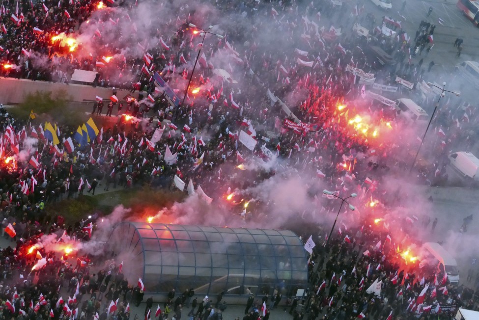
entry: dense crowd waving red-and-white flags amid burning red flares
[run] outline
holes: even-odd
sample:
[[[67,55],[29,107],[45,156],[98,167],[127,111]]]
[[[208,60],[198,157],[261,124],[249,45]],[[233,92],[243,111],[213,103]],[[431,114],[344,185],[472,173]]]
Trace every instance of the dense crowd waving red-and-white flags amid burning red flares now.
[[[125,55],[115,43],[117,38],[105,36],[108,29],[98,29],[104,36],[97,35],[93,40],[97,51],[91,56],[78,57],[51,37],[62,32],[77,36],[78,30],[88,24],[89,17],[100,10],[97,3],[18,3],[18,10],[14,1],[1,8],[1,26],[6,31],[0,40],[3,48],[0,62],[15,65],[2,68],[2,76],[60,81],[68,80],[74,69],[84,69],[98,72],[95,84],[141,93],[137,100],[124,102],[124,109],[123,104],[112,102],[106,115],[111,116],[116,111],[113,107],[117,107],[116,125],[102,128],[97,135],[88,133],[89,143],[82,143],[81,147],[75,143],[71,153],[63,143],[55,147],[50,135],[45,134],[46,128],[34,119],[25,124],[1,110],[5,133],[2,156],[13,157],[1,163],[3,236],[9,237],[5,230],[11,224],[17,241],[0,253],[4,275],[0,312],[5,319],[96,319],[96,314],[99,319],[107,319],[110,313],[118,319],[128,319],[129,303],[138,305],[143,300],[141,286],[129,283],[113,261],[95,274],[91,257],[78,257],[75,265],[71,262],[75,259],[63,252],[36,248],[46,259],[46,265],[30,272],[35,265],[35,253],[28,253],[28,249],[42,236],[56,234],[58,239],[88,241],[89,223],[93,220],[85,219],[70,226],[64,223],[61,213],[56,216],[45,213],[45,206],[82,195],[85,189],[94,194],[98,187],[104,190],[145,184],[154,188],[178,187],[174,180],[177,176],[184,181],[191,179],[195,189],[201,186],[206,194],[218,195],[214,199],[217,203],[223,201],[222,195],[229,193],[228,187],[241,193],[278,174],[277,170],[261,168],[245,173],[251,175],[249,179],[232,174],[240,164],[263,159],[268,163],[284,161],[291,167],[313,173],[310,175],[312,198],[320,194],[316,190],[319,181],[321,186],[339,190],[341,194],[357,190],[361,208],[371,207],[373,197],[385,210],[398,204],[404,191],[385,192],[382,178],[405,172],[404,154],[418,147],[414,141],[416,132],[410,133],[412,138],[399,141],[397,135],[410,124],[394,108],[363,98],[362,84],[358,84],[360,77],[350,68],[375,73],[376,81],[386,86],[398,85],[396,76],[414,83],[423,82],[426,72],[422,64],[414,65],[410,59],[406,62],[406,58],[410,50],[421,53],[433,35],[433,26],[421,24],[415,45],[411,45],[403,31],[396,37],[382,30],[372,38],[358,36],[347,30],[347,24],[341,24],[345,10],[338,10],[330,1],[306,4],[305,8],[290,1],[274,5],[262,1],[245,1],[240,5],[217,1],[219,12],[236,14],[249,21],[262,19],[260,14],[264,14],[268,26],[275,26],[290,45],[284,46],[283,51],[268,50],[268,47],[278,47],[273,45],[278,36],[264,39],[263,27],[231,25],[221,26],[225,30],[223,39],[212,40],[212,37],[199,46],[201,34],[196,35],[197,29],[189,25],[197,23],[198,13],[183,8],[178,19],[164,26],[165,30],[172,30],[171,34],[163,35],[163,29],[158,30],[161,41],[146,48],[145,43],[140,44],[139,47],[145,48],[141,55]],[[125,2],[120,6],[134,11],[137,4]],[[12,14],[21,20],[14,21]],[[326,15],[331,24],[323,24]],[[365,13],[356,6],[351,15],[355,16],[350,20],[353,22]],[[103,23],[119,18],[126,19],[121,11],[113,9],[100,15]],[[383,21],[399,31],[397,23]],[[333,23],[341,26],[336,28]],[[34,31],[34,27],[42,32]],[[122,37],[138,42],[133,41],[134,33]],[[365,54],[369,45],[380,46],[393,55],[399,67],[380,70]],[[200,55],[192,78],[192,88],[198,91],[188,92],[185,105],[172,107],[165,93],[155,90],[151,72],[159,72],[173,88],[181,88],[192,76],[191,64],[198,48],[206,53],[204,58]],[[105,52],[114,56],[113,62],[105,61],[98,67],[96,62]],[[48,63],[39,63],[39,56],[48,56]],[[229,77],[218,77],[213,63],[228,69]],[[267,95],[268,89],[274,95]],[[402,86],[397,90],[412,95]],[[148,96],[153,101],[146,98]],[[433,93],[426,92],[424,96],[424,108],[432,107]],[[293,112],[285,112],[282,101],[294,107]],[[103,102],[96,107],[93,120],[105,114]],[[151,121],[142,119],[147,115]],[[424,182],[438,184],[445,180],[449,146],[474,145],[475,135],[471,131],[475,130],[472,126],[477,115],[472,106],[460,108],[457,103],[444,99],[433,119],[441,141],[427,143],[431,150],[428,156],[435,160],[418,166]],[[158,123],[152,116],[158,117]],[[59,141],[72,137],[75,132],[74,128],[57,124]],[[253,152],[244,145],[242,132],[256,139]],[[155,134],[160,137],[152,142]],[[27,137],[38,141],[30,145]],[[338,205],[333,200],[317,201],[318,207],[322,207],[319,214],[336,210]],[[258,200],[253,207],[257,212],[264,212],[268,205]],[[371,214],[374,214],[372,209]],[[314,238],[319,243],[309,263],[308,295],[294,298],[282,296],[278,290],[260,292],[262,300],[255,301],[254,297],[248,300],[245,319],[256,320],[259,316],[268,319],[269,312],[261,310],[263,303],[271,310],[286,304],[284,310],[294,319],[303,319],[306,315],[308,319],[339,320],[432,319],[439,312],[448,315],[459,306],[477,309],[478,297],[470,289],[451,286],[447,277],[419,267],[418,263],[407,264],[407,259],[401,256],[407,249],[407,244],[403,247],[404,241],[411,242],[403,239],[413,237],[414,223],[400,215],[406,226],[400,231],[393,230],[393,226],[389,230],[389,224],[375,223],[371,214],[364,220],[351,221],[356,227],[347,227],[349,222],[344,222],[341,232],[335,233],[329,242],[322,237],[323,229],[315,229],[313,234],[321,237]],[[253,223],[261,222],[262,217],[247,213],[239,216]],[[93,259],[93,265],[95,262]],[[382,282],[379,297],[366,293],[376,279]],[[424,288],[423,301],[420,301],[418,296]],[[68,294],[71,300],[59,302],[61,294]],[[207,297],[198,303],[188,292],[177,296],[173,291],[170,295],[160,312],[161,317],[174,314],[179,320],[182,306],[190,308],[193,298],[193,310],[189,310],[188,317],[221,319],[221,306],[217,303],[213,307]],[[146,302],[145,317],[158,318],[154,308],[151,309],[151,301]]]

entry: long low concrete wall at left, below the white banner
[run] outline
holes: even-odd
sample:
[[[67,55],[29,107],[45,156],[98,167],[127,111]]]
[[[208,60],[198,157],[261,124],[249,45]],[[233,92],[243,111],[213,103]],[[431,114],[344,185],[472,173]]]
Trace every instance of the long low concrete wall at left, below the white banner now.
[[[0,103],[19,104],[23,102],[25,95],[35,91],[65,90],[72,101],[95,100],[95,96],[108,100],[112,96],[112,89],[101,87],[93,88],[89,85],[53,83],[46,81],[31,81],[25,79],[0,78]],[[128,90],[118,90],[116,97],[123,99]],[[137,91],[138,93],[138,91]],[[134,95],[138,97],[138,94]]]

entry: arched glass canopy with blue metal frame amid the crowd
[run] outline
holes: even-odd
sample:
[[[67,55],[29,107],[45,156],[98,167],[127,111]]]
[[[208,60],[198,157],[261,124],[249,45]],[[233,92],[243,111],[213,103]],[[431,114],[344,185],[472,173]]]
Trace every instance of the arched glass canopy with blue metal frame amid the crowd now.
[[[304,245],[287,230],[121,222],[108,243],[129,282],[141,277],[151,293],[293,294],[308,280]]]

